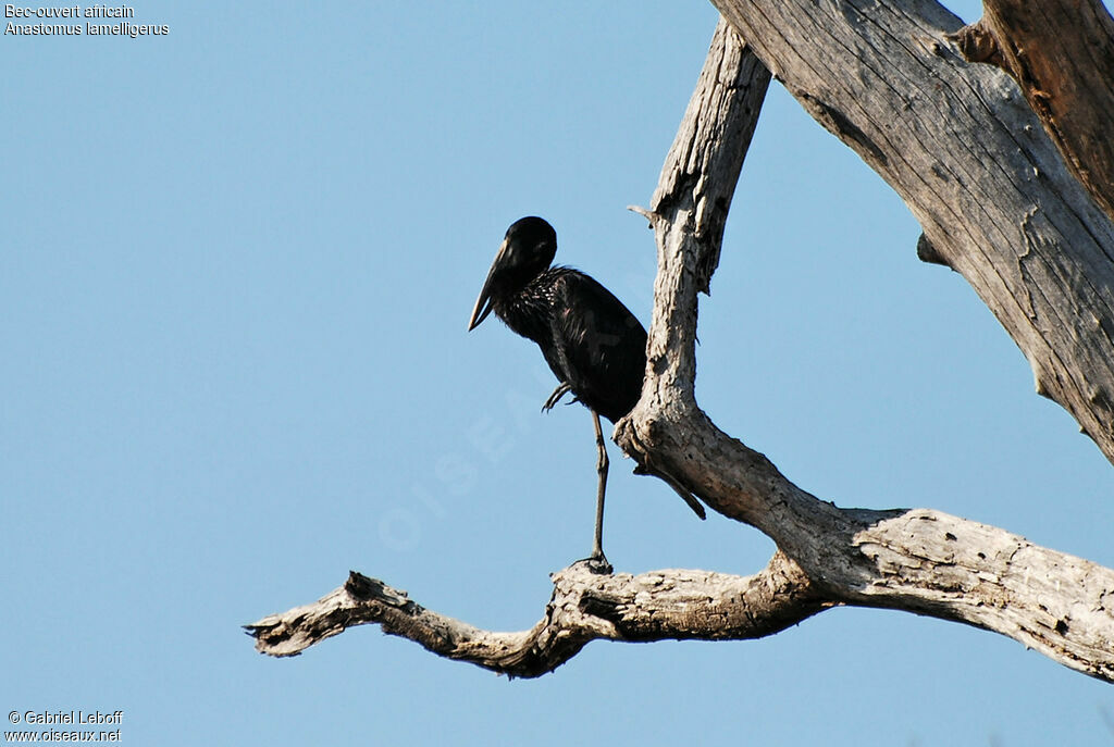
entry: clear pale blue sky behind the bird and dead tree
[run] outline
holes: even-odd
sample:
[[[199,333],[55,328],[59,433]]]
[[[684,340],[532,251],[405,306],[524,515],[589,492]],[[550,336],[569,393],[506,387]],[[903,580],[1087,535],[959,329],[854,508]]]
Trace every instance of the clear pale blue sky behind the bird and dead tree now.
[[[587,554],[587,412],[541,415],[536,347],[465,327],[528,214],[648,321],[652,235],[625,206],[649,199],[716,14],[135,8],[169,36],[0,38],[3,710],[120,709],[133,745],[1114,744],[1108,686],[899,612],[596,642],[532,681],[373,628],[257,655],[241,625],[349,569],[520,629]],[[840,505],[1114,564],[1111,465],[918,233],[772,86],[702,301],[702,405]],[[618,570],[769,558],[612,454]]]

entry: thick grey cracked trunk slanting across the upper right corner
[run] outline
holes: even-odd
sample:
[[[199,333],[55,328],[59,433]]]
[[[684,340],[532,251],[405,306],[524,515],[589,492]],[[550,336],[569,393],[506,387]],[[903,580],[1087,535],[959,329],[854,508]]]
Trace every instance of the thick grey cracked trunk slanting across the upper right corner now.
[[[713,3],[901,196],[930,256],[1022,348],[1037,392],[1114,462],[1114,225],[1017,83],[968,63],[954,42],[959,19],[931,0]]]

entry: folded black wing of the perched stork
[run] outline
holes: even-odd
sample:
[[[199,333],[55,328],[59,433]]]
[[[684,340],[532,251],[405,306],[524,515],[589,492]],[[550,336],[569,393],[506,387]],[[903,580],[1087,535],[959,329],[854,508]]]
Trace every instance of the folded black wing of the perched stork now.
[[[576,271],[555,283],[553,309],[557,360],[550,366],[560,368],[577,399],[617,421],[642,394],[645,328],[607,288]]]

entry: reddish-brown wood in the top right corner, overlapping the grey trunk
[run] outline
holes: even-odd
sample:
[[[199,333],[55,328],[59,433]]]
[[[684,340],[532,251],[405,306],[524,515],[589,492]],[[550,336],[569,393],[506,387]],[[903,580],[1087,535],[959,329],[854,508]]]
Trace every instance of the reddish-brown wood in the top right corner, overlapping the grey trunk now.
[[[957,35],[1018,82],[1072,174],[1114,216],[1114,19],[1100,0],[984,0]]]

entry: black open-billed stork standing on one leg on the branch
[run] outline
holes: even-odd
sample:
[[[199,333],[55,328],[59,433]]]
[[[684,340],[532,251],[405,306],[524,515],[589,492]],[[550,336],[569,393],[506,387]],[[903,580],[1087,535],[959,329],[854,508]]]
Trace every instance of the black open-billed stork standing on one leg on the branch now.
[[[568,392],[592,411],[596,429],[599,486],[592,560],[607,566],[603,550],[607,449],[599,415],[613,423],[642,396],[646,371],[646,330],[603,285],[570,267],[550,266],[557,234],[538,217],[516,220],[507,229],[476,299],[469,332],[492,311],[519,335],[532,340],[559,382],[543,410]],[[704,507],[668,475],[659,474],[704,518]]]

